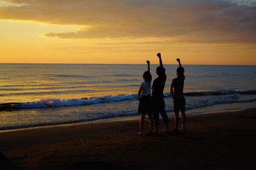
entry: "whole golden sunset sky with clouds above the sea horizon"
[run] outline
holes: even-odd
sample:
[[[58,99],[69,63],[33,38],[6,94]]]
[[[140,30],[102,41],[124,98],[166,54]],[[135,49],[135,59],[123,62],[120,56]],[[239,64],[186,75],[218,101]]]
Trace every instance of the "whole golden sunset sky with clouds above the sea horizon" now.
[[[256,0],[0,0],[1,63],[256,65]]]

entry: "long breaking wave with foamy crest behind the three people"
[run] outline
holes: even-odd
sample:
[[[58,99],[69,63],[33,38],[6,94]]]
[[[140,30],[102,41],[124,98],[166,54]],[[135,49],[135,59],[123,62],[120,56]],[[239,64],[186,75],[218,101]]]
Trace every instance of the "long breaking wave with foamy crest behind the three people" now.
[[[220,92],[187,92],[185,96],[225,96],[228,94],[256,94],[256,90],[223,90]],[[99,103],[111,103],[126,100],[136,100],[137,94],[121,94],[117,96],[100,96],[100,97],[88,97],[82,99],[40,99],[39,101],[31,103],[3,103],[0,104],[0,110],[6,109],[28,109],[28,108],[56,108],[64,106],[85,106],[87,104],[99,104]],[[170,97],[169,93],[165,93],[164,97]],[[227,100],[226,100],[227,101]],[[228,102],[234,102],[228,101]],[[225,103],[220,101],[219,103]],[[204,105],[219,104],[218,101],[211,103],[207,101]],[[195,106],[193,106],[195,108]],[[196,107],[197,108],[197,107]]]

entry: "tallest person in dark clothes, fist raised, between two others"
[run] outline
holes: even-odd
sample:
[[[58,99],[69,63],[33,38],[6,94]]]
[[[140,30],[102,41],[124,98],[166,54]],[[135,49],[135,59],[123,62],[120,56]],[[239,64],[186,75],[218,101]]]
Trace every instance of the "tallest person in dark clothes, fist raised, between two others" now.
[[[159,67],[156,69],[157,78],[153,81],[152,85],[152,97],[153,97],[153,105],[154,105],[154,132],[158,133],[159,127],[159,113],[163,117],[164,121],[164,130],[163,132],[168,132],[168,117],[165,111],[165,103],[164,103],[164,85],[166,81],[165,69],[163,67],[163,62],[161,59],[161,53],[157,53],[157,57],[159,57]]]

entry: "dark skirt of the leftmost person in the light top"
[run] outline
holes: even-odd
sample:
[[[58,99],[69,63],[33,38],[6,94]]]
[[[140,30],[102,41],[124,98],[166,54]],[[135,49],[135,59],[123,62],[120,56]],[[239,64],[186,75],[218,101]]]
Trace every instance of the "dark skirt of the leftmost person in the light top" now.
[[[153,112],[153,101],[150,95],[142,96],[139,107],[138,113],[152,113]]]

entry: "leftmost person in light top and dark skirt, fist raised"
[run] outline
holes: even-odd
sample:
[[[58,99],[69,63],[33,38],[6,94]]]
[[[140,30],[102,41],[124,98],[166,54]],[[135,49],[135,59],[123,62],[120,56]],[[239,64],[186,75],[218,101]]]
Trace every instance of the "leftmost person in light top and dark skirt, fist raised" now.
[[[141,114],[140,117],[140,132],[139,136],[142,137],[143,135],[143,125],[145,122],[146,114],[149,118],[149,130],[146,136],[152,136],[154,134],[153,132],[153,107],[152,107],[152,97],[151,97],[151,81],[152,81],[152,75],[150,74],[150,61],[147,60],[148,64],[148,71],[145,71],[143,74],[143,82],[140,85],[140,89],[138,91],[138,99],[140,100],[139,107],[138,107],[138,113]]]

